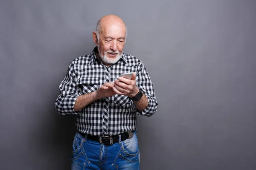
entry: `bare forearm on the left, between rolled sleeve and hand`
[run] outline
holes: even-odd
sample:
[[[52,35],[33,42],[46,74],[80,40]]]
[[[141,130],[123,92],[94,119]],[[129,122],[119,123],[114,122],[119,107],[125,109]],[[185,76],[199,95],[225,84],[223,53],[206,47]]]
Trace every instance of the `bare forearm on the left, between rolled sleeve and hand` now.
[[[96,91],[93,91],[88,94],[83,94],[76,99],[74,110],[80,111],[82,108],[84,108],[85,106],[89,105],[91,102],[97,99],[99,99],[99,97],[96,96]]]

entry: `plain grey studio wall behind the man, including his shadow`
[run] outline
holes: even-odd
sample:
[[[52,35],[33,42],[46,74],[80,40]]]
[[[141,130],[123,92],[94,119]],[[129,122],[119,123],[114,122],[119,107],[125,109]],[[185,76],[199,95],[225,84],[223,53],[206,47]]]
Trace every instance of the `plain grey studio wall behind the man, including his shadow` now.
[[[142,170],[256,169],[255,0],[1,0],[0,169],[68,170],[58,85],[106,14],[128,27],[159,109],[138,117]]]

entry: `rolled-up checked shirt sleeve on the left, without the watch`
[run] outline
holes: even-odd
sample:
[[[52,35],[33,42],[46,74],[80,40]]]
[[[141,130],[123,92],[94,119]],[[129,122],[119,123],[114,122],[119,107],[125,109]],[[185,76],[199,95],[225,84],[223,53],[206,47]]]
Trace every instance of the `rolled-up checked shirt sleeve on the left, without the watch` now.
[[[76,74],[74,73],[74,61],[70,63],[64,79],[59,85],[60,94],[55,101],[55,108],[60,114],[78,114],[74,105],[79,94],[79,87],[76,84]]]

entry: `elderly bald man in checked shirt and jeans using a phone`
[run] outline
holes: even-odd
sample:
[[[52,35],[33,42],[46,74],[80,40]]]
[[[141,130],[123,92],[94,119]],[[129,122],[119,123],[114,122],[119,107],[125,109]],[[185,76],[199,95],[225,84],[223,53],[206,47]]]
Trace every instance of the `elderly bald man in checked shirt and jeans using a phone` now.
[[[140,169],[136,115],[153,115],[157,100],[143,62],[122,53],[126,35],[121,18],[102,17],[96,47],[70,63],[59,86],[57,111],[77,115],[72,170]]]

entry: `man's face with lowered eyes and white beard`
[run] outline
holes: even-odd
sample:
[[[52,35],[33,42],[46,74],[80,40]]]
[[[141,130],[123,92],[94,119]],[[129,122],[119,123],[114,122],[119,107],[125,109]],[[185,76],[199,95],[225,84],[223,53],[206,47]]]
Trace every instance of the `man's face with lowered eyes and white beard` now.
[[[125,45],[125,26],[110,25],[102,27],[99,32],[99,56],[106,65],[116,63],[122,56]]]

